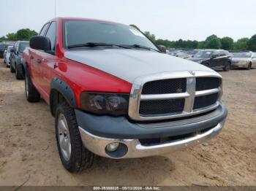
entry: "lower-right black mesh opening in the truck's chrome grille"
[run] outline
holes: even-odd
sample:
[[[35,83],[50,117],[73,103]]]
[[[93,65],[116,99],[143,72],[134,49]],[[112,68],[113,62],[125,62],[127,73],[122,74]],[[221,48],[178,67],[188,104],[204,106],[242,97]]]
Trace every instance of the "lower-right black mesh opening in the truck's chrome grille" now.
[[[219,93],[214,93],[211,95],[203,95],[195,98],[193,109],[201,109],[206,106],[211,106],[215,104],[218,100]]]

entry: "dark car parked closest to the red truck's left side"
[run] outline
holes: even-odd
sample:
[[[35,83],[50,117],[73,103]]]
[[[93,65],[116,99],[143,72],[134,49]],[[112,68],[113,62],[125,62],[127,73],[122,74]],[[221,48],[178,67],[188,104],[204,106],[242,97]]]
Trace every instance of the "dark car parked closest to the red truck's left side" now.
[[[16,79],[24,79],[22,61],[23,51],[29,47],[29,41],[18,41],[15,43],[14,48],[11,50],[10,55],[10,71],[15,72]]]

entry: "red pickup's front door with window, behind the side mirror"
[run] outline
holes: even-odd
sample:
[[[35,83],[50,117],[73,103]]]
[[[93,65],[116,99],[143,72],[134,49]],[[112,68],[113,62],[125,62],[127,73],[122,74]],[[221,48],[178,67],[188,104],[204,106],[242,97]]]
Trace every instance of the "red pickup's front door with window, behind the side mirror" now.
[[[53,79],[53,70],[56,66],[56,22],[53,21],[50,23],[48,27],[48,31],[45,33],[45,36],[50,39],[51,45],[51,53],[48,52],[40,52],[39,58],[41,60],[40,65],[40,73],[41,78],[39,81],[40,87],[42,87],[42,96],[46,101],[49,99],[50,94],[50,82]]]

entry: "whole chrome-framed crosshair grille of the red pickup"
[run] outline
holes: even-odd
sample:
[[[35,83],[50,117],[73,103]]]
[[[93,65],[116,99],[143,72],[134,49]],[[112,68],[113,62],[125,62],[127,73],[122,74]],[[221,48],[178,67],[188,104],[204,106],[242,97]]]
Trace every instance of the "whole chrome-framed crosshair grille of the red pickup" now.
[[[221,82],[221,76],[212,71],[178,71],[139,77],[132,85],[129,117],[166,120],[211,111],[219,105]]]

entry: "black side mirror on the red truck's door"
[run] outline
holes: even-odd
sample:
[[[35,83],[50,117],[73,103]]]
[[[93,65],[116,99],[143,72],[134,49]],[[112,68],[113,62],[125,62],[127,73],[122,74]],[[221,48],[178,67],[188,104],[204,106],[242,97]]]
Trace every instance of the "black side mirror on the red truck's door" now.
[[[33,36],[29,41],[29,46],[35,50],[50,51],[50,39],[46,36]]]

